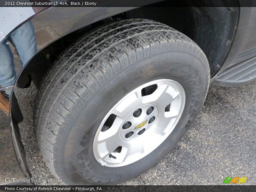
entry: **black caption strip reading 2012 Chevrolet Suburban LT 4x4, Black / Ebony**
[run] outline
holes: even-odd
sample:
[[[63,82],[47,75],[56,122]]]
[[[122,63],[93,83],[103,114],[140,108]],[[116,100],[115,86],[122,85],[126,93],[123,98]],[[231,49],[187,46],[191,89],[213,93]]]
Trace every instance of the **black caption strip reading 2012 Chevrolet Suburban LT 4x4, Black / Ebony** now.
[[[164,2],[164,4],[163,4]],[[0,7],[253,7],[255,0],[1,0]]]

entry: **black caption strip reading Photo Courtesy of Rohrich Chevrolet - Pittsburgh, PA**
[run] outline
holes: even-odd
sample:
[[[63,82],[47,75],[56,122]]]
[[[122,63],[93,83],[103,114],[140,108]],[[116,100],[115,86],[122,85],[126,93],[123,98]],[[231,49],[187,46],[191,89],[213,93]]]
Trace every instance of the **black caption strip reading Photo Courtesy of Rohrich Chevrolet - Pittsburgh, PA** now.
[[[178,192],[178,191],[200,191],[200,192],[229,192],[229,191],[255,191],[256,186],[243,186],[243,185],[214,185],[214,186],[188,186],[188,185],[180,185],[180,186],[63,186],[63,185],[51,185],[51,186],[26,186],[26,185],[5,185],[0,186],[0,190],[2,191],[35,191],[35,192],[82,192],[82,191],[97,191],[97,192],[137,192],[137,191],[145,191],[145,192]]]

